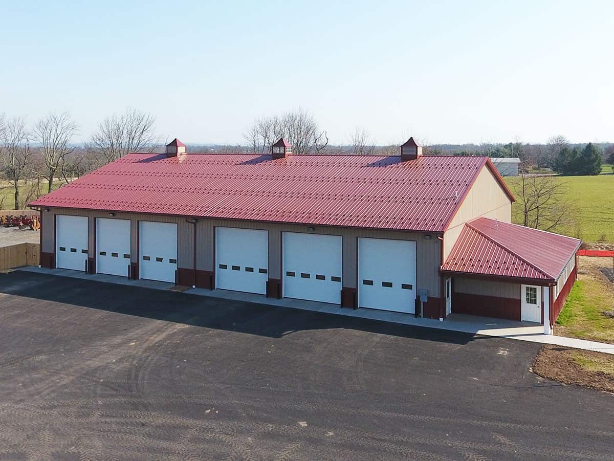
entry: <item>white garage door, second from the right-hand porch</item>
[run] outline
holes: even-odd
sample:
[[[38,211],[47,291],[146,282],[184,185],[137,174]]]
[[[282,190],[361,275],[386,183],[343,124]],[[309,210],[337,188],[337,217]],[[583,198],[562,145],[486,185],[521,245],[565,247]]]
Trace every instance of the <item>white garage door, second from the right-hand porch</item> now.
[[[341,244],[341,236],[284,232],[284,297],[340,304]]]

